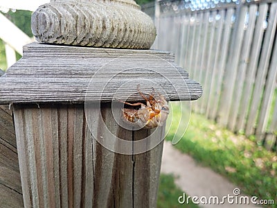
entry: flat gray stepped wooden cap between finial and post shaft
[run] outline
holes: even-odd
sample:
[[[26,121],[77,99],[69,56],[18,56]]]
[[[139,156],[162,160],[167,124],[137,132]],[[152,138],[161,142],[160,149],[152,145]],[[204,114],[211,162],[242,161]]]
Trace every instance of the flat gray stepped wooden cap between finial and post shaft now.
[[[129,101],[140,101],[136,79],[141,80],[141,91],[152,91],[154,86],[143,85],[142,79],[150,80],[171,101],[195,100],[202,94],[199,83],[188,78],[170,52],[33,43],[24,46],[23,58],[1,78],[0,102],[83,103],[91,78],[90,101],[107,102],[130,94],[134,95]]]

